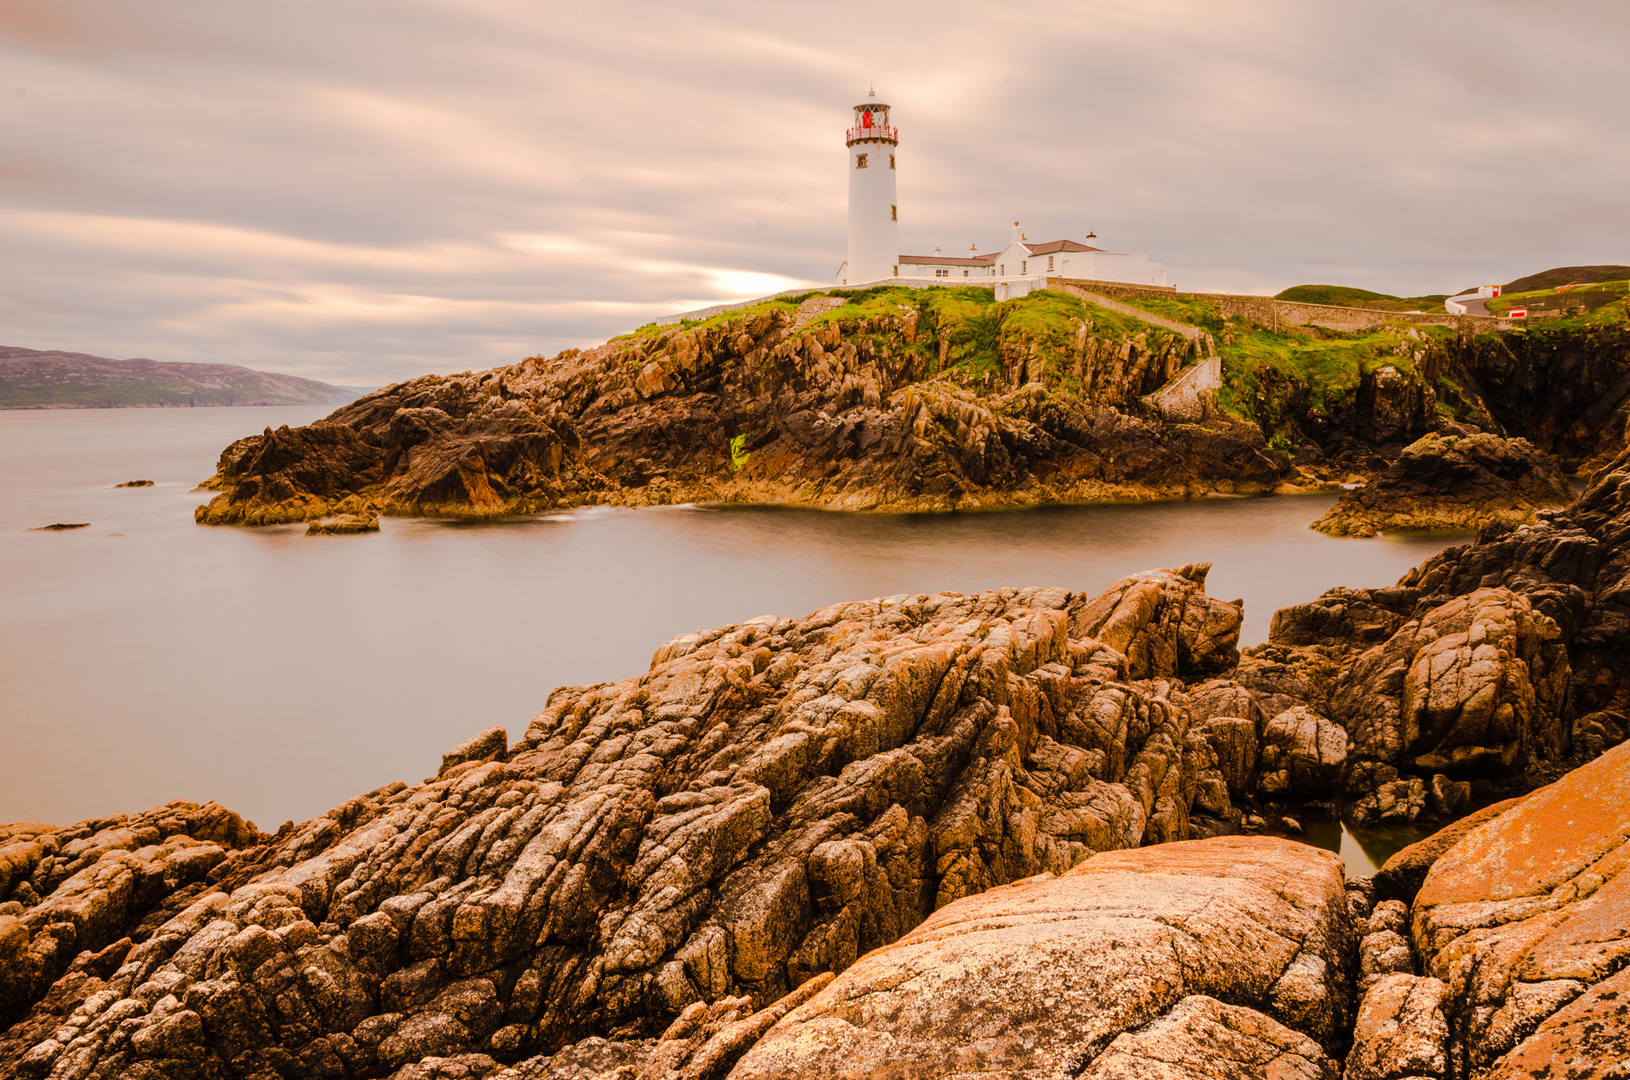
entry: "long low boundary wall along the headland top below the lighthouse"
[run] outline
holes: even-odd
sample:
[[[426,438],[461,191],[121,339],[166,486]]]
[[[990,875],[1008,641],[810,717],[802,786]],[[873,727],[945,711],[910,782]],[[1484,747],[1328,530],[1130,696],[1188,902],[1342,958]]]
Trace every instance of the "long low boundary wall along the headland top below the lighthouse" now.
[[[1281,326],[1322,326],[1330,331],[1343,331],[1348,334],[1359,331],[1372,331],[1387,323],[1403,323],[1408,326],[1452,326],[1460,334],[1480,334],[1483,331],[1503,331],[1514,326],[1521,326],[1522,319],[1501,319],[1491,314],[1449,314],[1447,311],[1428,311],[1428,313],[1408,313],[1408,311],[1376,311],[1374,308],[1340,308],[1335,305],[1324,303],[1294,303],[1289,300],[1275,300],[1273,296],[1250,296],[1245,293],[1185,293],[1178,292],[1175,285],[1131,285],[1128,282],[1099,282],[1092,279],[1079,277],[1050,277],[1042,279],[986,279],[994,285],[998,280],[1014,282],[1014,280],[1040,280],[1043,288],[1063,288],[1064,292],[1090,292],[1100,296],[1110,296],[1115,300],[1201,300],[1205,303],[1213,303],[1224,316],[1242,316],[1252,323],[1267,326],[1268,329],[1280,329]],[[989,288],[976,279],[955,279],[955,277],[885,277],[877,282],[862,282],[859,285],[830,285],[820,287],[812,285],[808,288],[787,288],[779,293],[769,293],[768,296],[756,296],[753,300],[743,300],[740,303],[722,303],[712,308],[699,308],[696,311],[683,311],[680,314],[667,314],[660,319],[652,319],[645,326],[670,326],[680,323],[681,319],[709,319],[716,314],[724,314],[725,311],[742,311],[751,308],[756,303],[764,303],[766,300],[776,300],[779,296],[802,296],[804,293],[852,293],[862,288],[877,288],[879,285],[893,285],[898,288],[962,288],[971,285],[975,288]],[[1134,310],[1136,311],[1136,310]],[[1148,313],[1138,313],[1139,318],[1148,318],[1151,323],[1165,324],[1165,321]]]

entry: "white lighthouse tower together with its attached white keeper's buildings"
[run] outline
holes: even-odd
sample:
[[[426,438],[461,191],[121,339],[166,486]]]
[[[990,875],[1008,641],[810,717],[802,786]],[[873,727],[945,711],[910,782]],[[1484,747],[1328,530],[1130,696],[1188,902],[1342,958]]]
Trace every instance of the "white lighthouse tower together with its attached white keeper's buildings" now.
[[[1030,243],[1014,222],[1007,246],[980,254],[947,256],[939,248],[931,256],[900,254],[900,205],[895,176],[900,132],[888,121],[888,106],[875,91],[854,106],[854,125],[846,132],[849,147],[849,257],[838,269],[844,285],[906,279],[967,279],[981,285],[1040,287],[1043,277],[1081,277],[1099,282],[1165,285],[1165,267],[1148,256],[1104,251],[1074,239]],[[1087,239],[1095,239],[1089,233]],[[994,279],[994,280],[993,280]],[[999,288],[1007,293],[1007,288]],[[1014,290],[1029,292],[1029,288]]]

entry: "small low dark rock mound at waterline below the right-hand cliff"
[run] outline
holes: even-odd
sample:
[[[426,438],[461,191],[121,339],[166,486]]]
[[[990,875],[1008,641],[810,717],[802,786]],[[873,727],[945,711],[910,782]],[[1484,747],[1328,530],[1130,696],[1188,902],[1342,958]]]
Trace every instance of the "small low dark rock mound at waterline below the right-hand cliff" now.
[[[1426,435],[1374,481],[1345,492],[1312,528],[1330,536],[1475,533],[1493,521],[1529,525],[1573,497],[1557,463],[1527,440]]]

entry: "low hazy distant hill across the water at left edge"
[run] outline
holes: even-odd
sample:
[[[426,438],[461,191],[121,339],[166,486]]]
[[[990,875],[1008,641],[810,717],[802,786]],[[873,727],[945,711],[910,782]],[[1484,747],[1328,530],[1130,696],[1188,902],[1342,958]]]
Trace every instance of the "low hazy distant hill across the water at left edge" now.
[[[323,406],[355,397],[341,386],[235,363],[109,360],[0,345],[0,409]]]

